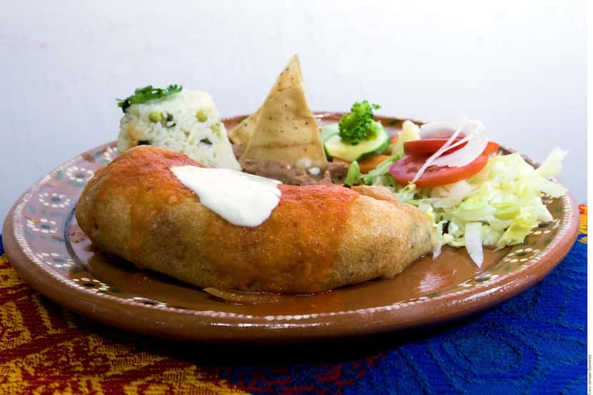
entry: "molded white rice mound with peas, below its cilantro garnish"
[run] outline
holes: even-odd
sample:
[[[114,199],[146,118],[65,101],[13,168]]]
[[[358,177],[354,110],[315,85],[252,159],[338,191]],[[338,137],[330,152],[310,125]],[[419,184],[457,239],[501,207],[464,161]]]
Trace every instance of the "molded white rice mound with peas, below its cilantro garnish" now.
[[[164,99],[129,106],[120,121],[117,152],[140,144],[178,151],[201,164],[241,169],[207,92],[184,89]]]

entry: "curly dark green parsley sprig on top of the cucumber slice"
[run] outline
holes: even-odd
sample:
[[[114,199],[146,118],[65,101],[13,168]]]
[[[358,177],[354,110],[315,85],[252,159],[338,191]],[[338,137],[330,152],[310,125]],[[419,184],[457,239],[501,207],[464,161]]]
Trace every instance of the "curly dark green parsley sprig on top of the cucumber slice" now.
[[[377,126],[373,124],[373,110],[380,109],[379,104],[358,101],[352,105],[348,114],[339,120],[339,136],[347,144],[356,145],[361,140],[377,136]]]

